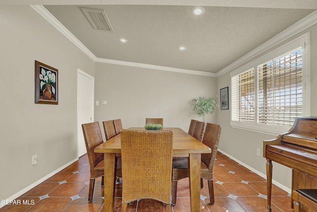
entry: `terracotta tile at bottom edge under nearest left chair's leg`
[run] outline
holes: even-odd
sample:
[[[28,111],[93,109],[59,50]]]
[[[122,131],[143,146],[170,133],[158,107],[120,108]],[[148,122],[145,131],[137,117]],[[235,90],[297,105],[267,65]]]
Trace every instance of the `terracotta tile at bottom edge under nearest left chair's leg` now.
[[[92,203],[88,198],[73,200],[63,212],[99,212],[104,204],[103,198],[95,198]]]

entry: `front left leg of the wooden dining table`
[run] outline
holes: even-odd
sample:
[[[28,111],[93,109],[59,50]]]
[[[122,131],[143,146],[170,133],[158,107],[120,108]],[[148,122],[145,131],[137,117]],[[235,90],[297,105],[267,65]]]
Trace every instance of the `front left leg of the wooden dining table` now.
[[[114,153],[105,153],[105,212],[112,212],[114,207],[116,158]]]

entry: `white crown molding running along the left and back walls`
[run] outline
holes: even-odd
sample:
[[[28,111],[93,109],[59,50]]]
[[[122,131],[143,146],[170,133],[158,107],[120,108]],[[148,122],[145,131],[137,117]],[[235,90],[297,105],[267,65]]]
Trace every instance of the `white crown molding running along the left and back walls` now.
[[[69,30],[64,25],[62,25],[43,5],[30,5],[30,6],[35,11],[37,11],[40,15],[42,15],[47,21],[49,21],[59,32],[61,32],[66,38],[68,38],[73,44],[75,44],[81,51],[86,53],[95,62],[105,62],[105,63],[118,64],[118,65],[127,65],[127,66],[150,68],[150,69],[157,69],[157,70],[163,70],[163,71],[172,71],[172,72],[178,72],[178,73],[216,77],[215,73],[210,73],[210,72],[98,58],[87,47],[85,47],[85,45],[83,45],[71,32],[69,32]]]

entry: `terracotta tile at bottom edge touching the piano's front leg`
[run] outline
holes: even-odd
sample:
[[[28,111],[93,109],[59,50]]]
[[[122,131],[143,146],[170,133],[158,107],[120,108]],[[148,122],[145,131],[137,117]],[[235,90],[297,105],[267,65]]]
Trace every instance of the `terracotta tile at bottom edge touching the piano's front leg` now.
[[[267,200],[262,197],[237,197],[236,201],[238,201],[247,212],[268,212]],[[271,209],[271,212],[282,212],[274,205],[271,205]]]

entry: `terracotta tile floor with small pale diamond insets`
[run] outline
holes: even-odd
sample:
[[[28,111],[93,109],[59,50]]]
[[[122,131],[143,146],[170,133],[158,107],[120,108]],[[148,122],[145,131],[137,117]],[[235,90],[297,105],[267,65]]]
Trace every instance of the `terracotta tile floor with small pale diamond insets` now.
[[[215,203],[210,205],[208,184],[201,189],[201,212],[267,212],[266,182],[263,177],[218,152],[214,174]],[[0,212],[103,212],[101,177],[96,179],[93,202],[88,203],[89,163],[87,155],[6,205]],[[121,211],[121,184],[115,192],[115,212]],[[28,204],[22,204],[28,203]],[[173,212],[190,212],[188,178],[180,180]],[[163,212],[154,200],[140,200],[128,212]],[[273,185],[272,212],[293,212],[290,195]]]

